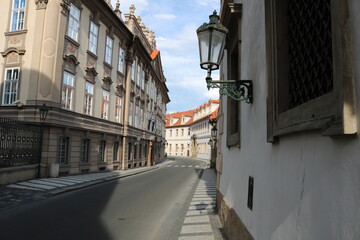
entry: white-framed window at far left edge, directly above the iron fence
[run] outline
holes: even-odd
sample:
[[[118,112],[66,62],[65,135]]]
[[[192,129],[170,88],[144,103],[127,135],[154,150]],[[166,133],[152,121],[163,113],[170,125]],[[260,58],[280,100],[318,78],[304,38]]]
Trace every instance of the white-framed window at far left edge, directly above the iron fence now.
[[[3,105],[12,104],[18,99],[18,85],[19,85],[19,68],[5,69],[5,79],[3,87]]]

